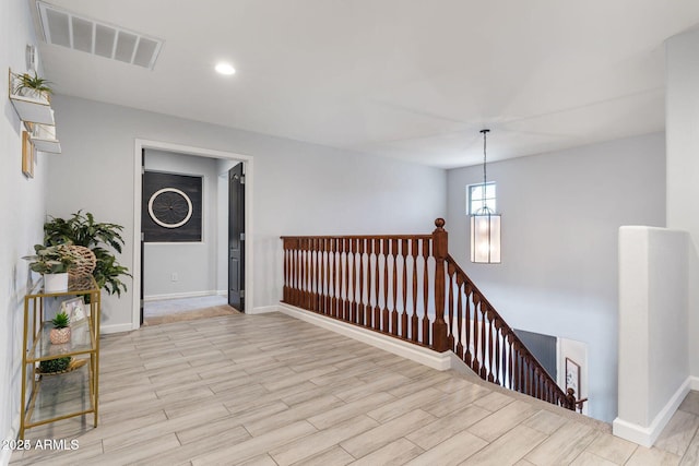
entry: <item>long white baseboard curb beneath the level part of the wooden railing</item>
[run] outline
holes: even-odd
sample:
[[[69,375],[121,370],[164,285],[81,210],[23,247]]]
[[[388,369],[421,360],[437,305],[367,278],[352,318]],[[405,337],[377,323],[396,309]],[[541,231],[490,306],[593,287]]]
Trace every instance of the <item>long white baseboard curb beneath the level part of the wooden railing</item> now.
[[[368,345],[375,346],[412,361],[419,362],[420,365],[430,367],[433,369],[446,371],[452,368],[451,351],[433,351],[431,349],[402,342],[398,338],[382,335],[378,332],[366,330],[357,325],[352,325],[342,321],[337,321],[335,319],[318,315],[315,312],[296,308],[294,306],[280,303],[274,308],[286,315],[291,315],[313,325],[321,326],[350,338],[357,339],[362,343],[366,343]]]

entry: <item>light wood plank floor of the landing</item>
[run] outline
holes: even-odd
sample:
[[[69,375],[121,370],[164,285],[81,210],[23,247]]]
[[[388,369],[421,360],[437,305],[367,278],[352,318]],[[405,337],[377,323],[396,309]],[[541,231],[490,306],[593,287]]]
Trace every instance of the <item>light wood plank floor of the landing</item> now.
[[[86,417],[27,431],[78,450],[15,452],[11,464],[673,465],[697,464],[699,450],[696,426],[676,433],[688,419],[665,450],[644,449],[279,313],[107,335],[100,377],[96,429]]]

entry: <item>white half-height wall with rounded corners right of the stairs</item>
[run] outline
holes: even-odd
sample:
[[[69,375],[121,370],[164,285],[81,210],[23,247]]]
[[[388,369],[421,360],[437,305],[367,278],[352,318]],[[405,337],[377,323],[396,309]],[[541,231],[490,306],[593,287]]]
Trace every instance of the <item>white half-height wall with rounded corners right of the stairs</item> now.
[[[689,391],[686,231],[619,230],[619,414],[614,432],[653,444]]]

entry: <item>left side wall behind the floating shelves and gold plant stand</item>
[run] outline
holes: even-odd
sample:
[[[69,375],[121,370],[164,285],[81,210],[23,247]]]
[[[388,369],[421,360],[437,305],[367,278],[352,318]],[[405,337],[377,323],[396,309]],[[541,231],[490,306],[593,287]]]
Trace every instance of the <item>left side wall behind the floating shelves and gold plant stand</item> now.
[[[36,44],[28,7],[24,0],[0,4],[0,440],[14,439],[19,427],[23,297],[28,275],[27,263],[20,258],[44,239],[46,162],[52,157],[38,154],[34,179],[22,175],[20,120],[7,97],[8,69],[25,72],[25,47]],[[11,453],[0,450],[0,464]]]

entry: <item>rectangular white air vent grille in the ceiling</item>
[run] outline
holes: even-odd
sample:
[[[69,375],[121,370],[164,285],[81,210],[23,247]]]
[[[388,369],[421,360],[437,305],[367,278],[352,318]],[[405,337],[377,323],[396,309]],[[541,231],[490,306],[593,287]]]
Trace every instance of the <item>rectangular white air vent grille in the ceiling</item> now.
[[[43,1],[36,3],[44,37],[48,44],[86,51],[151,70],[155,65],[163,40],[79,16]]]

